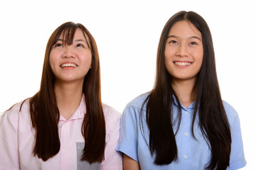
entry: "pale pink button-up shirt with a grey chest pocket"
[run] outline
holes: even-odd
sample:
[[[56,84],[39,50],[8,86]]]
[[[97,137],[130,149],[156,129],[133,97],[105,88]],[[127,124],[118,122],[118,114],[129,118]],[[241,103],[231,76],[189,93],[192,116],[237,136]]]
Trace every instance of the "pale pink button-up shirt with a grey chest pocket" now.
[[[69,120],[60,115],[58,132],[60,151],[43,162],[33,156],[35,131],[31,128],[29,101],[16,104],[0,116],[0,169],[122,169],[122,157],[114,149],[119,139],[121,114],[103,104],[106,123],[105,160],[101,164],[81,162],[80,156],[85,145],[81,126],[85,115],[85,98]]]

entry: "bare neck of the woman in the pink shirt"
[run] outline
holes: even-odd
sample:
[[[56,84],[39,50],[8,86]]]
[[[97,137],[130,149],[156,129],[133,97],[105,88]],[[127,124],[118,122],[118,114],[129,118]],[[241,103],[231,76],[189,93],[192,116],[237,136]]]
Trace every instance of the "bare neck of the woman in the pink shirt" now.
[[[56,82],[54,89],[60,115],[68,120],[80,105],[82,83],[60,84]]]

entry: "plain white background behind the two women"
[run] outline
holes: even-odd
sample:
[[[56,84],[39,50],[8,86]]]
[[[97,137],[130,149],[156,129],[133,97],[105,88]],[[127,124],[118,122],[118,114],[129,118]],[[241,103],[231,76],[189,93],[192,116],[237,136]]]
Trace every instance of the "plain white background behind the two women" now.
[[[240,115],[247,166],[255,169],[255,5],[253,1],[1,1],[0,113],[33,96],[46,43],[66,21],[82,23],[100,52],[102,101],[122,113],[154,85],[161,30],[174,13],[196,11],[213,35],[223,100]]]

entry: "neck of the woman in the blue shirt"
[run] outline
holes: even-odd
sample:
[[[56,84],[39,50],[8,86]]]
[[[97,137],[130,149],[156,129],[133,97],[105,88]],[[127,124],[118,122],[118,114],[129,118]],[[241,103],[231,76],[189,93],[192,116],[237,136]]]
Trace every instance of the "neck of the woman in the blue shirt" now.
[[[178,99],[181,101],[183,106],[188,108],[188,106],[196,100],[196,94],[193,91],[193,87],[196,84],[196,79],[190,80],[174,80],[171,83]]]

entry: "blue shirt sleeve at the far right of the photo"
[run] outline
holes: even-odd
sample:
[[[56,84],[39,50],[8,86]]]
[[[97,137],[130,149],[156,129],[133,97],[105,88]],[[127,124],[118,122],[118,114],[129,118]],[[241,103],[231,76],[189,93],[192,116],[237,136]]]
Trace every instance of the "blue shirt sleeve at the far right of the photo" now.
[[[240,128],[240,120],[238,113],[234,108],[228,110],[232,112],[235,116],[233,121],[230,122],[230,131],[231,131],[231,153],[230,153],[230,166],[228,170],[241,169],[246,165],[245,154],[243,151],[242,145],[242,134]],[[227,112],[227,111],[226,111]]]

